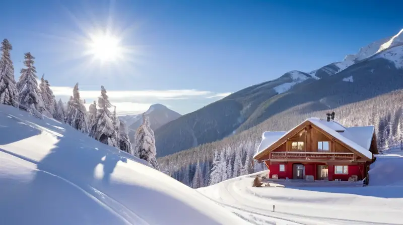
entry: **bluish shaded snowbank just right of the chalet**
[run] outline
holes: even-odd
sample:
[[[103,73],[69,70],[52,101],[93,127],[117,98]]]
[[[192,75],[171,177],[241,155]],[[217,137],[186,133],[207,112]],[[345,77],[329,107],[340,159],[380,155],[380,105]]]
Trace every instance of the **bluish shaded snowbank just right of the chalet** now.
[[[403,186],[403,156],[397,154],[376,155],[369,170],[370,186]]]

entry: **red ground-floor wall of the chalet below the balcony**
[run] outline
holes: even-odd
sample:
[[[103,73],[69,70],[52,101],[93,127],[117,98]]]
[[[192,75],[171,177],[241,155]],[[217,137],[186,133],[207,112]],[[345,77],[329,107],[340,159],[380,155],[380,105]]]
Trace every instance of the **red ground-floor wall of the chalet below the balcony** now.
[[[283,162],[283,163],[278,163],[278,162],[272,162],[271,165],[268,164],[269,162],[266,161],[266,166],[270,170],[269,171],[269,176],[270,178],[273,178],[273,174],[277,174],[279,179],[286,179],[288,177],[289,179],[293,178],[293,164],[304,164],[304,163],[298,163],[298,162]],[[285,171],[280,172],[280,164],[285,165]],[[305,166],[305,176],[306,175],[312,175],[313,178],[316,180],[316,167],[317,165],[325,165],[324,163],[310,163],[310,164],[304,164]],[[352,175],[357,175],[359,180],[363,179],[362,172],[365,175],[365,164],[360,164],[360,165],[348,165],[349,166],[349,173],[348,174],[334,174],[334,165],[329,165],[328,166],[328,177],[329,180],[334,180],[334,179],[341,179],[343,181],[348,181],[349,177]],[[361,170],[360,170],[361,169]]]

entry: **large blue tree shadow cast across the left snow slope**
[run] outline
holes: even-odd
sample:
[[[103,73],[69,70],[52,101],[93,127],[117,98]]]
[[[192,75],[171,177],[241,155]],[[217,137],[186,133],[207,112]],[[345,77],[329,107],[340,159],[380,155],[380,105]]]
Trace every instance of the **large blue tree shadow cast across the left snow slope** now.
[[[104,177],[104,185],[109,182],[110,174],[121,160],[113,151],[119,150],[99,146],[103,144],[96,140],[80,141],[82,135],[70,129],[64,132],[64,137],[58,137],[56,146],[40,162],[5,151],[37,164],[31,182],[0,188],[8,193],[4,197],[9,199],[0,201],[10,202],[2,210],[5,224],[124,223],[122,218],[94,197],[91,188],[96,180],[94,170],[98,165],[103,166],[104,175],[101,173],[100,176]]]

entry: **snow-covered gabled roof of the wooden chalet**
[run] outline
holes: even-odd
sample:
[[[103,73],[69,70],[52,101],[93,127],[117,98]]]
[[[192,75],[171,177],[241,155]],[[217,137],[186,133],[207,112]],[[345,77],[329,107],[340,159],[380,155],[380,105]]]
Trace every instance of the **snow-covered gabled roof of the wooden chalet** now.
[[[326,120],[322,120],[319,118],[309,118],[301,124],[305,123],[306,121],[311,122],[313,125],[317,126],[329,135],[355,149],[357,152],[368,157],[369,159],[372,159],[372,153],[369,151],[369,149],[375,131],[374,126],[346,128],[335,121],[327,122]],[[298,126],[300,126],[301,124],[299,124]],[[297,128],[298,126],[296,126],[295,128]],[[256,151],[256,154],[253,157],[256,157],[260,152],[272,146],[282,137],[287,136],[287,134],[293,131],[295,128],[291,129],[288,132],[264,132],[263,139]]]

